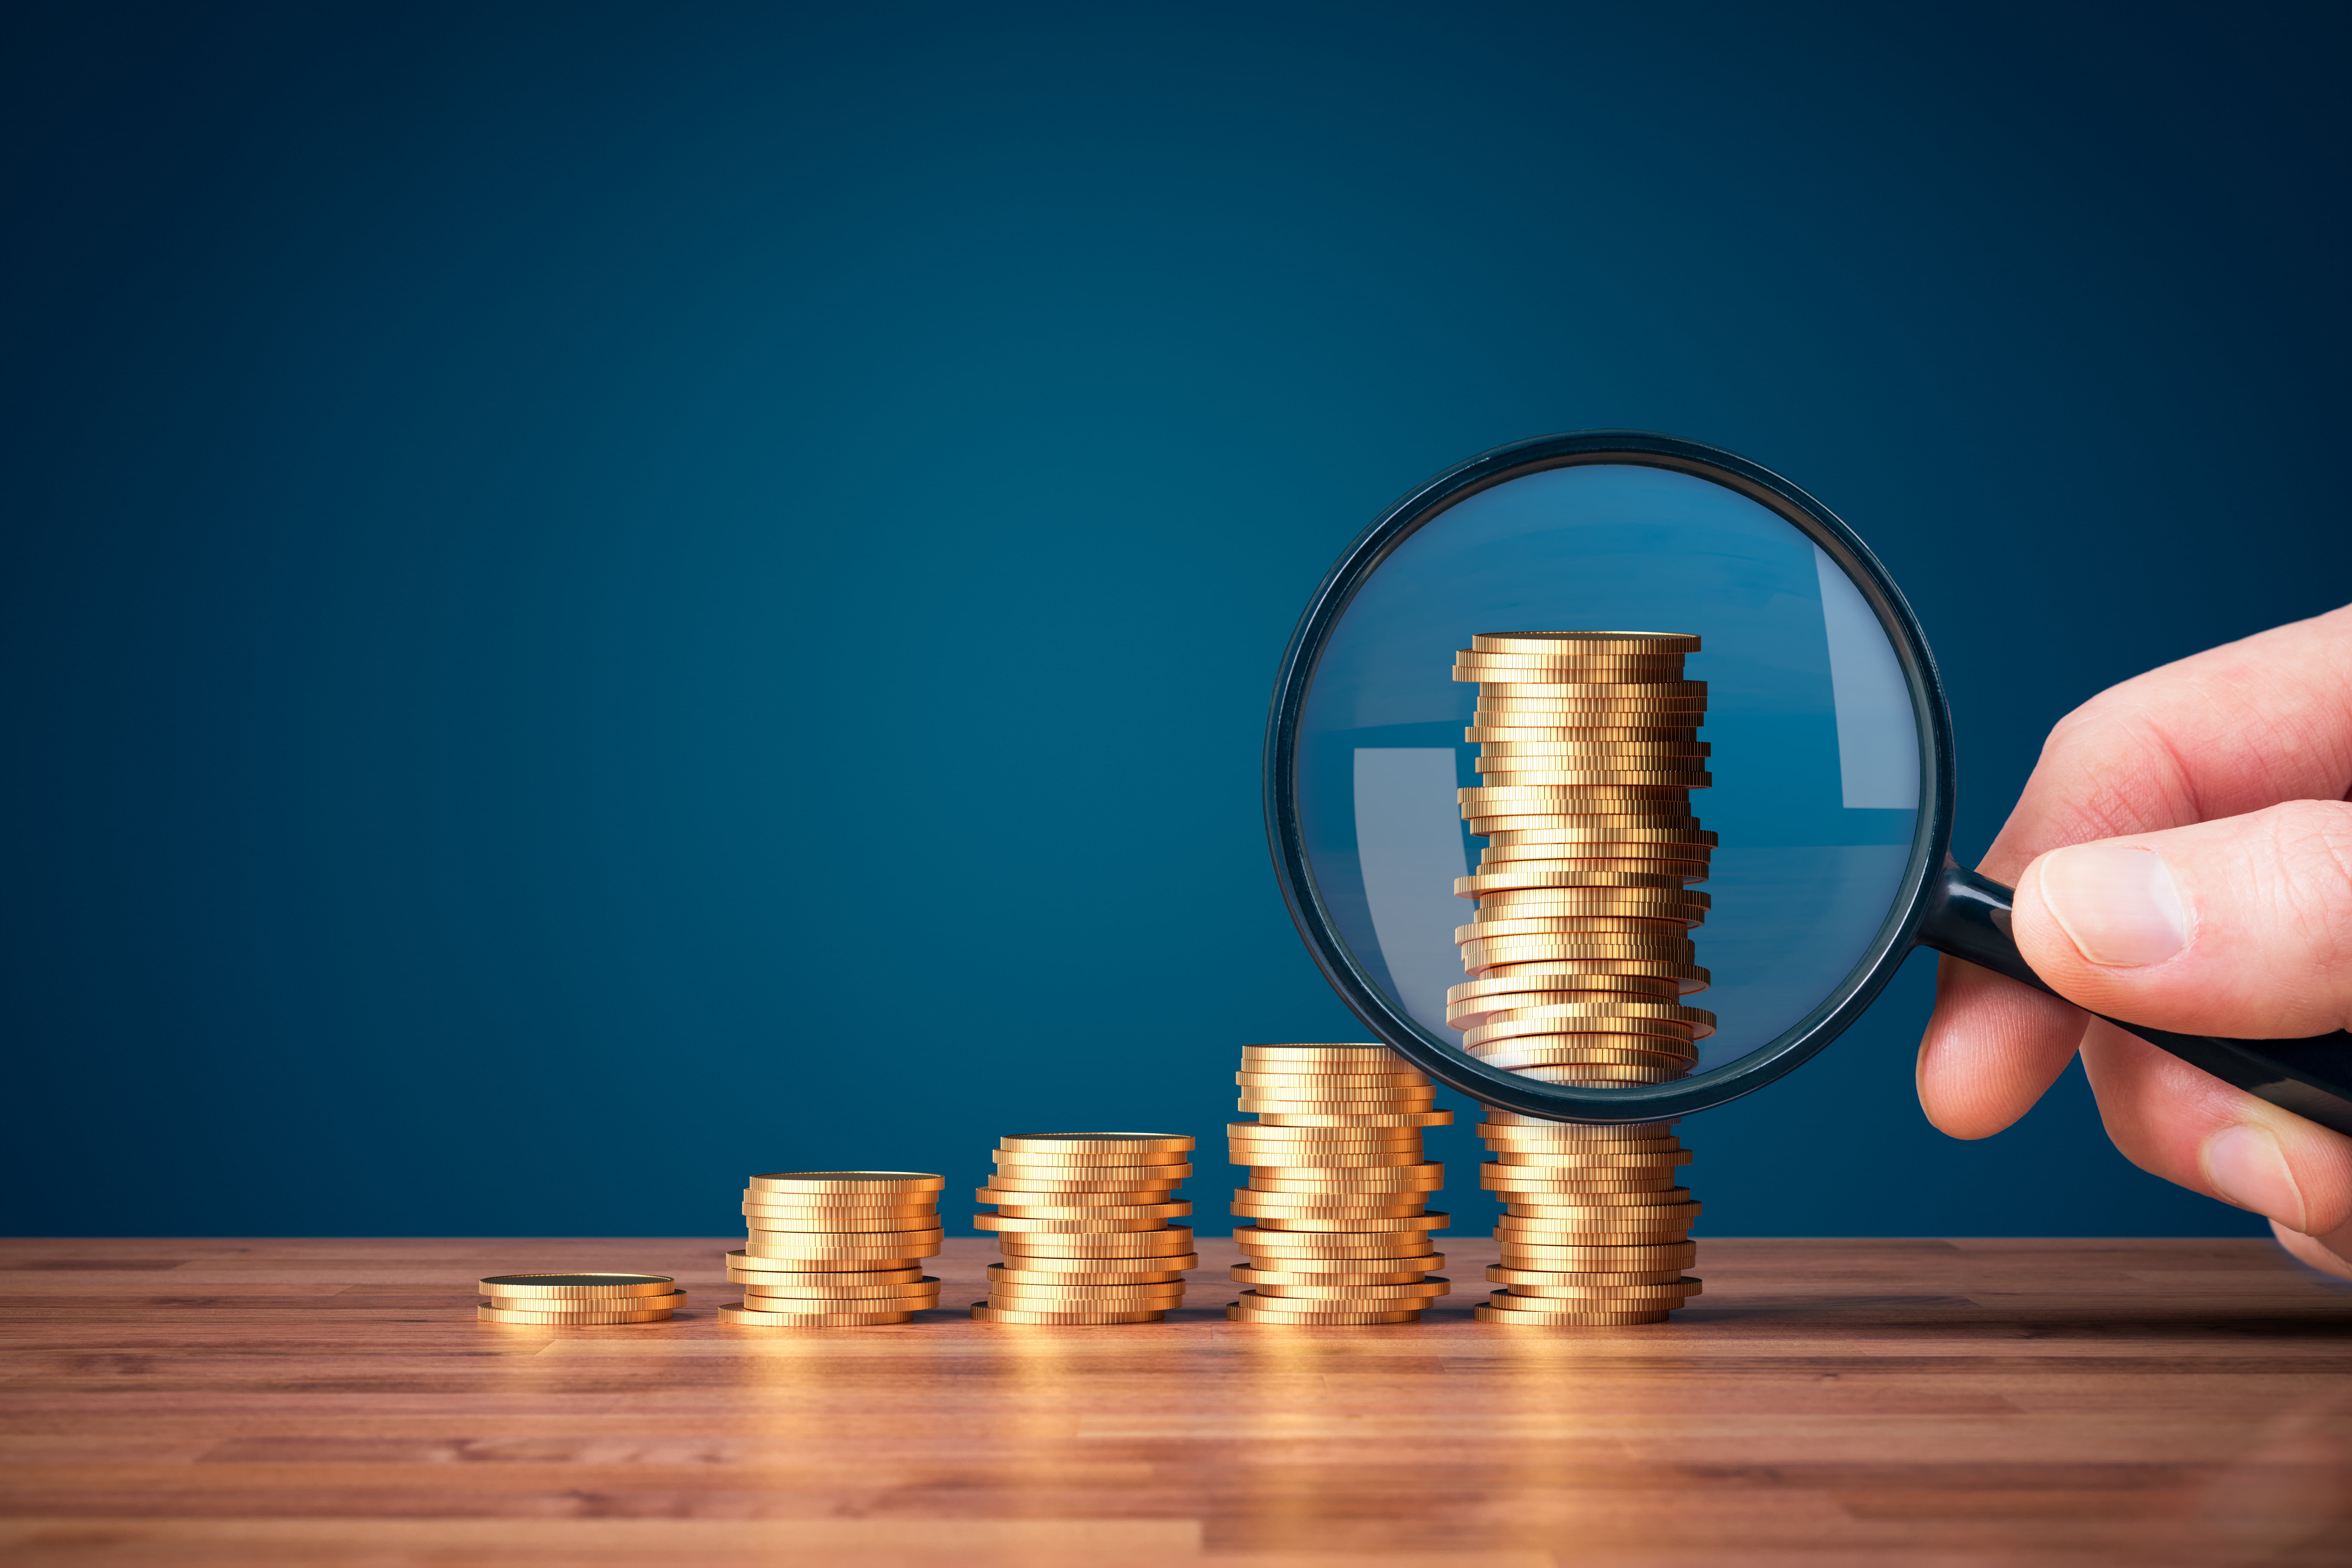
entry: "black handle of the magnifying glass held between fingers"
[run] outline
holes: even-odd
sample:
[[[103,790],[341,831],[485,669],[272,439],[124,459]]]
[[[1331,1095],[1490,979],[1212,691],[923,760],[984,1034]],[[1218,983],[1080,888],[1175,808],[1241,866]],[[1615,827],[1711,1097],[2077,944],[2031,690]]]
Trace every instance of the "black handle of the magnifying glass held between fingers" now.
[[[1945,856],[1940,884],[1929,886],[1926,919],[1919,922],[1917,940],[1922,947],[1950,952],[1955,959],[2056,997],[2058,992],[2025,966],[2018,940],[2009,933],[2013,898],[2013,889],[1978,877]],[[2107,1016],[2098,1013],[2098,1018]],[[2107,1018],[2107,1023],[2211,1072],[2223,1084],[2237,1084],[2258,1100],[2270,1100],[2338,1133],[2352,1133],[2352,1034],[2345,1030],[2310,1039],[2220,1039],[2218,1034],[2150,1030],[2122,1018]]]

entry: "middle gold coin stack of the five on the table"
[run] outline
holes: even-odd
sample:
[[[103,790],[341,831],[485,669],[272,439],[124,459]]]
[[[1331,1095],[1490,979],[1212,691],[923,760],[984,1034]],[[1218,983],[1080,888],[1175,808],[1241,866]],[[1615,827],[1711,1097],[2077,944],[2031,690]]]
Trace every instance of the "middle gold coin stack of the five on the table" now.
[[[1183,1305],[1200,1262],[1192,1213],[1176,1187],[1192,1175],[1183,1133],[1016,1133],[974,1197],[995,1213],[1002,1262],[988,1265],[981,1324],[1157,1324]]]

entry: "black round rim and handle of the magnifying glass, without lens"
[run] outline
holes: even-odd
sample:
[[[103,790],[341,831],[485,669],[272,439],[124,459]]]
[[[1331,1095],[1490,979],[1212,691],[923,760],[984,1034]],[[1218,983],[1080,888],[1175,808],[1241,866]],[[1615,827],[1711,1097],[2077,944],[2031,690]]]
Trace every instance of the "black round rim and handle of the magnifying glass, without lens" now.
[[[1449,505],[1543,468],[1578,463],[1637,463],[1712,480],[1766,505],[1844,567],[1877,614],[1903,665],[1912,712],[1919,719],[1919,778],[1924,785],[1919,825],[1893,907],[1877,936],[1870,938],[1863,959],[1820,1006],[1778,1039],[1722,1067],[1672,1084],[1604,1091],[1543,1084],[1489,1067],[1465,1056],[1454,1041],[1428,1032],[1392,1004],[1338,938],[1338,926],[1308,870],[1305,837],[1298,823],[1298,724],[1308,684],[1331,630],[1364,581],[1409,534]],[[1439,1084],[1486,1105],[1552,1121],[1665,1121],[1755,1093],[1837,1039],[1886,987],[1912,947],[1936,947],[2011,980],[2051,990],[2025,966],[2009,933],[2011,891],[1952,863],[1952,710],[1945,703],[1943,677],[1936,672],[1936,656],[1929,654],[1919,621],[1896,590],[1893,578],[1853,536],[1853,529],[1780,475],[1719,447],[1649,430],[1578,430],[1496,447],[1411,491],[1348,545],[1322,588],[1315,590],[1308,614],[1298,621],[1298,630],[1291,632],[1291,644],[1282,654],[1282,675],[1275,682],[1275,701],[1265,724],[1265,835],[1298,936],[1305,938],[1315,961],[1355,1016]],[[2218,1039],[2171,1034],[2119,1018],[2107,1023],[2131,1030],[2225,1084],[2237,1084],[2321,1126],[2352,1133],[2352,1034],[2338,1030],[2312,1039]]]

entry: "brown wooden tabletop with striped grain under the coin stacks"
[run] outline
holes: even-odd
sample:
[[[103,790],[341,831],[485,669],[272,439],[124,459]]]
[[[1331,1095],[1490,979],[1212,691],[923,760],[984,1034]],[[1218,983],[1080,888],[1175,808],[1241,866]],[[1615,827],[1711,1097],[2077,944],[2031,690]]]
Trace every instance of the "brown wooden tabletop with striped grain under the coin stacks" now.
[[[2267,1241],[1700,1241],[1665,1326],[748,1331],[727,1241],[5,1241],[9,1563],[2347,1563],[2352,1288]],[[981,1295],[985,1239],[934,1265]],[[506,1269],[677,1274],[496,1328]]]

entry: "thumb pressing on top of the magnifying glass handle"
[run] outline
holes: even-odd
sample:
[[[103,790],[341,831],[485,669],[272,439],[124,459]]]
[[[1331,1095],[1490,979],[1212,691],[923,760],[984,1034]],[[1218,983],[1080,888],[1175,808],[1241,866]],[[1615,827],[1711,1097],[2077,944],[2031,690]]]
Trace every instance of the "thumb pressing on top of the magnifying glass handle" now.
[[[2013,931],[2067,1001],[2180,1034],[2298,1039],[2352,1018],[2352,804],[2072,844],[2018,879]]]

